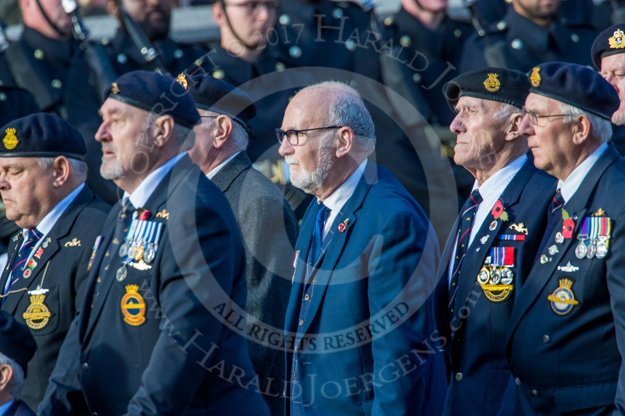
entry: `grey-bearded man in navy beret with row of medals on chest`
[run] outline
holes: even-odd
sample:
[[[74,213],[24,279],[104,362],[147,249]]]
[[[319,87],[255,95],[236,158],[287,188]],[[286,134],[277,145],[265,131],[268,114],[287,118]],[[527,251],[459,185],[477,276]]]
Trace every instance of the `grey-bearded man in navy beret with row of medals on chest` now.
[[[241,235],[187,155],[200,120],[191,95],[134,71],[113,82],[100,112],[100,172],[124,196],[38,413],[268,414],[240,335]]]

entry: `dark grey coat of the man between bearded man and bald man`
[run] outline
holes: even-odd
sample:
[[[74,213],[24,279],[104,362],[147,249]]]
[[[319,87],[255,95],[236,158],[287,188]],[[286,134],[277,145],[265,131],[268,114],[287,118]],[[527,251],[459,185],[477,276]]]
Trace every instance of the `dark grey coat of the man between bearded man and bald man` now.
[[[271,414],[282,414],[284,359],[278,353],[291,293],[297,220],[284,195],[252,168],[245,152],[226,163],[212,181],[230,203],[245,246],[249,356],[261,380],[261,391],[271,384],[270,394],[264,395]]]

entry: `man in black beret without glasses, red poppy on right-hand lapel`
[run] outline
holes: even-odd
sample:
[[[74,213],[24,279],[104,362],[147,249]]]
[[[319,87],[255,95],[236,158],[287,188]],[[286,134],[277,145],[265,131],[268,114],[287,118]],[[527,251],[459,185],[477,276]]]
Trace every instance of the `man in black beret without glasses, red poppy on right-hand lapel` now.
[[[447,238],[436,317],[451,382],[444,415],[496,415],[510,377],[503,336],[536,256],[555,180],[526,156],[519,132],[529,90],[517,70],[485,68],[446,87],[456,111],[454,160],[475,182]]]

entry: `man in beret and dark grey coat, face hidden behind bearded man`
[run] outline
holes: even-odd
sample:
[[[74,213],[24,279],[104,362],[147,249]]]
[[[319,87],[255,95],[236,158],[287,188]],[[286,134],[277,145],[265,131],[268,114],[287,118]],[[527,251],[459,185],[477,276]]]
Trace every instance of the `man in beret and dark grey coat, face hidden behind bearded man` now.
[[[282,192],[252,168],[245,152],[256,105],[246,93],[210,75],[184,77],[202,123],[194,128],[191,160],[224,193],[241,228],[246,254],[247,335],[263,397],[272,415],[284,412],[281,349],[297,221]],[[269,389],[267,389],[269,385]]]

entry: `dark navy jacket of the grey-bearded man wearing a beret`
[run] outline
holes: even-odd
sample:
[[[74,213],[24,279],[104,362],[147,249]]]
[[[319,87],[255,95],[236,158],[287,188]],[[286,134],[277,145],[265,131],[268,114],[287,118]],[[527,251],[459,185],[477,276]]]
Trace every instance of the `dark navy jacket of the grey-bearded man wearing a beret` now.
[[[116,279],[123,241],[114,236],[116,205],[38,413],[80,414],[86,404],[101,415],[268,414],[239,334],[246,324],[244,253],[226,198],[185,155],[142,208],[164,224],[152,267],[129,266],[128,276]],[[110,268],[98,276],[109,257]],[[145,321],[136,326],[124,321],[121,306],[131,285],[144,307]]]

